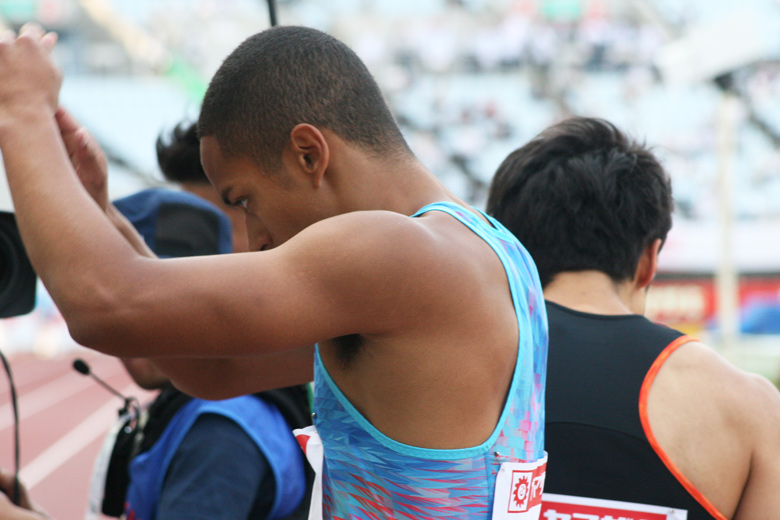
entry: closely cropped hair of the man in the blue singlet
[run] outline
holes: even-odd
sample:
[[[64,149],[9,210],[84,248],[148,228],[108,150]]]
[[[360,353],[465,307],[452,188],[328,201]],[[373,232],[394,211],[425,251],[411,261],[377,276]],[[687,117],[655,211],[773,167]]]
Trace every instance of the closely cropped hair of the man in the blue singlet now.
[[[326,128],[377,155],[411,153],[376,81],[344,43],[305,27],[274,27],[225,59],[201,107],[201,137],[278,170],[292,129]]]

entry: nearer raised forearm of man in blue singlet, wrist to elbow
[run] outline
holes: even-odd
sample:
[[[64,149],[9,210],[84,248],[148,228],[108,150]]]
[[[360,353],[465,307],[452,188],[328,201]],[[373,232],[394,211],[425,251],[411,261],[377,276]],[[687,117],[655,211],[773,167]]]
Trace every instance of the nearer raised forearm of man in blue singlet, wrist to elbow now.
[[[135,253],[82,188],[50,110],[1,122],[0,149],[30,260],[65,314]]]

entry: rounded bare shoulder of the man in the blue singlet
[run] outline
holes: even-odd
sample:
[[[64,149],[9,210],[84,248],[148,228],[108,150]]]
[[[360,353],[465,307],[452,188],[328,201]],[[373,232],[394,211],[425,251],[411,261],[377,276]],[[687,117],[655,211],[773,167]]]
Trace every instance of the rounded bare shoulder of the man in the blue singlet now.
[[[318,222],[269,253],[282,255],[277,264],[288,269],[316,273],[308,287],[366,334],[410,323],[451,289],[457,263],[442,254],[446,247],[418,219],[364,211]]]

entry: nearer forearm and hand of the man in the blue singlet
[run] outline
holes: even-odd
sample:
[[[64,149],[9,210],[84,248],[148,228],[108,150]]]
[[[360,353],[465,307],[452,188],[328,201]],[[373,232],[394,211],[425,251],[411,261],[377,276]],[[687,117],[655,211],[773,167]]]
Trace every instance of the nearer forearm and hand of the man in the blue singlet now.
[[[54,119],[61,78],[46,41],[33,27],[23,29],[16,40],[0,40],[0,149],[33,266],[53,296],[70,292],[70,300],[84,302],[90,294],[82,282],[93,267],[117,256],[132,261],[137,255],[70,166]],[[84,263],[81,257],[92,241],[102,243],[107,254],[98,252]],[[61,308],[70,306],[61,296],[57,299],[65,303]]]

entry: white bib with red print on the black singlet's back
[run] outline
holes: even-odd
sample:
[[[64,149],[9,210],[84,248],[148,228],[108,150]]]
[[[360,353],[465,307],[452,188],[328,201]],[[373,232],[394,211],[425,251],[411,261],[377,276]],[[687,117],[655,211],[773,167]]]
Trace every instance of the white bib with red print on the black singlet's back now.
[[[542,520],[687,520],[688,512],[671,507],[545,493]]]

